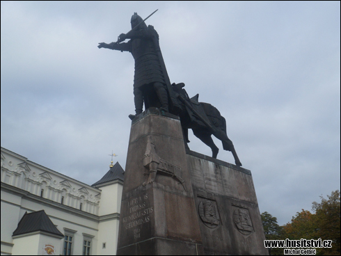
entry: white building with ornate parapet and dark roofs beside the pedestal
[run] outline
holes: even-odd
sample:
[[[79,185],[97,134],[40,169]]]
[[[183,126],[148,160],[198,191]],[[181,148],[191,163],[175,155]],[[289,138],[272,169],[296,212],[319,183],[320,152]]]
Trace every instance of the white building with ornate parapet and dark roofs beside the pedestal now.
[[[92,186],[1,147],[1,255],[115,255],[124,170]]]

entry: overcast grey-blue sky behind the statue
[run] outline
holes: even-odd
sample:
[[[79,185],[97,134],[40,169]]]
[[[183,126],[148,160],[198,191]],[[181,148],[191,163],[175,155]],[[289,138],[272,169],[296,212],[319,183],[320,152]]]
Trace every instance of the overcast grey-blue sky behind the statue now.
[[[340,1],[1,1],[1,147],[90,185],[111,152],[125,168],[134,59],[97,45],[156,9],[170,81],[225,117],[261,213],[340,189]]]

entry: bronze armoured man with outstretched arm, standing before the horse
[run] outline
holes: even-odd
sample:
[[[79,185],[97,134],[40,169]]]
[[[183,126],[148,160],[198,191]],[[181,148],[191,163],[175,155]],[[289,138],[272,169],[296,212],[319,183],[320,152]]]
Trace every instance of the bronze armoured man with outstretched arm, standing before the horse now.
[[[134,13],[131,19],[132,30],[120,34],[118,42],[101,42],[98,48],[129,51],[135,60],[134,103],[136,115],[155,106],[169,112],[168,96],[170,86],[168,74],[159,47],[159,35],[153,26],[147,26],[143,19]],[[130,39],[128,42],[122,42]],[[171,92],[173,93],[173,91]],[[172,100],[172,99],[170,99]],[[136,115],[129,115],[133,119]]]

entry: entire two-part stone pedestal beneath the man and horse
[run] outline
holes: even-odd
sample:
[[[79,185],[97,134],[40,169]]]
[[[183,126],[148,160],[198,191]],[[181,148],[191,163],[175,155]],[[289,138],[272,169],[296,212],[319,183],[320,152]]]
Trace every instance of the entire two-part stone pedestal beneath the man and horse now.
[[[267,255],[250,170],[185,151],[180,120],[132,122],[118,255]]]

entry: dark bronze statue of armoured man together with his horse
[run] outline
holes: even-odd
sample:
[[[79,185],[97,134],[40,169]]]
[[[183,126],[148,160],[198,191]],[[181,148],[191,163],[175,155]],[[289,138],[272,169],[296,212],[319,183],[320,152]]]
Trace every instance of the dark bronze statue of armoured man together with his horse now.
[[[213,134],[222,141],[224,150],[232,152],[236,165],[241,166],[235,147],[226,134],[225,118],[221,116],[218,109],[211,104],[198,102],[198,95],[190,99],[186,90],[183,89],[184,83],[170,84],[159,46],[159,35],[153,26],[145,24],[146,19],[143,20],[137,13],[134,13],[131,19],[131,31],[120,34],[117,42],[110,44],[100,42],[98,45],[98,48],[129,51],[134,57],[136,115],[142,113],[143,103],[145,109],[156,107],[161,110],[161,114],[170,112],[179,115],[187,149],[189,149],[188,129],[192,129],[195,136],[211,147],[212,157],[216,158],[219,148],[212,140]],[[123,42],[126,39],[129,41]],[[133,120],[136,115],[129,115],[129,118]],[[153,168],[154,166],[152,170]]]

